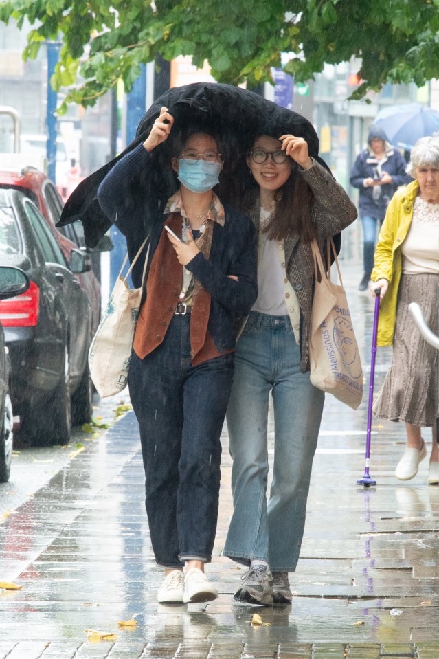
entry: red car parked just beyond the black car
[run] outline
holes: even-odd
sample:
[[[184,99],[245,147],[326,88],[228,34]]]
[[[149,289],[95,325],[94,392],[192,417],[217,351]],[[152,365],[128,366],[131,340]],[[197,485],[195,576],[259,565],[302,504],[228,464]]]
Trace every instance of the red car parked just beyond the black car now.
[[[26,162],[25,157],[23,155],[24,163]],[[60,219],[60,214],[63,210],[63,200],[58,190],[56,190],[54,183],[43,172],[33,166],[23,166],[21,168],[11,167],[8,170],[1,170],[0,188],[20,190],[34,202],[47,222],[58,245],[63,250],[67,263],[69,263],[71,251],[74,249],[81,249],[87,254],[89,267],[84,272],[76,273],[75,276],[89,298],[91,327],[94,333],[98,328],[101,312],[100,252],[106,252],[112,249],[113,243],[111,238],[104,236],[100,243],[91,250],[85,245],[84,233],[79,221],[74,223],[74,225],[62,227],[61,230],[58,230],[55,225]]]

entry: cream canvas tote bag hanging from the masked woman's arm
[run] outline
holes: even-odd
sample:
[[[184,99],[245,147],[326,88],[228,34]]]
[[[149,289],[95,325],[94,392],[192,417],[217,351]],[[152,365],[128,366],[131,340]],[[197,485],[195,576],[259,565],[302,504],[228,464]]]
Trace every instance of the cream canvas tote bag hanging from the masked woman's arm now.
[[[142,253],[148,238],[149,236],[145,238],[139,252],[133,258],[133,263],[131,263],[128,272],[125,277],[122,277],[122,272],[128,260],[128,254],[126,254],[113,293],[111,293],[105,313],[91,342],[89,350],[90,375],[96,391],[102,398],[114,396],[126,387],[150,245],[148,245],[145,257],[142,286],[139,289],[130,289],[126,280]]]

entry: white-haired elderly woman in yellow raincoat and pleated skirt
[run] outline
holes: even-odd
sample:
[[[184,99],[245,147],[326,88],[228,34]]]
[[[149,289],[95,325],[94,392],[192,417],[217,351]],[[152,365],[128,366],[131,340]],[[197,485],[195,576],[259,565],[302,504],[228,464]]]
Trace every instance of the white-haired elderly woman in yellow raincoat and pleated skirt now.
[[[407,449],[395,476],[410,480],[427,455],[421,428],[432,428],[429,484],[439,482],[436,418],[439,416],[438,353],[420,336],[410,302],[438,333],[439,137],[423,137],[410,155],[414,181],[394,194],[375,250],[370,290],[380,289],[378,345],[393,346],[392,364],[374,401],[379,418],[404,421]]]

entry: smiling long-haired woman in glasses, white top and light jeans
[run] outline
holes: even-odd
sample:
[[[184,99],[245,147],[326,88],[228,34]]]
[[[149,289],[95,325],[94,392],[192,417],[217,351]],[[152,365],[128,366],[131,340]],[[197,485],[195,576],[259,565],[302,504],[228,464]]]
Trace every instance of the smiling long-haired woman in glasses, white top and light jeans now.
[[[310,242],[316,238],[322,251],[357,210],[300,137],[260,135],[247,166],[240,209],[258,231],[258,298],[236,346],[227,408],[234,513],[223,553],[249,567],[234,599],[288,604],[324,404],[308,373]],[[270,392],[274,462],[267,502]]]

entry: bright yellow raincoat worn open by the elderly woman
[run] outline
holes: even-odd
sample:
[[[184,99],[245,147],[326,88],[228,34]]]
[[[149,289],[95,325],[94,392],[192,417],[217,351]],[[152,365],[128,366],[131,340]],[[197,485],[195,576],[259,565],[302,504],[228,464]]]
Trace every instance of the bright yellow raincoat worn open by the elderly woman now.
[[[377,344],[392,346],[398,287],[401,280],[401,245],[412,224],[414,200],[418,194],[418,181],[396,190],[387,207],[375,250],[375,266],[370,278],[376,282],[387,279],[389,288],[381,302]]]

